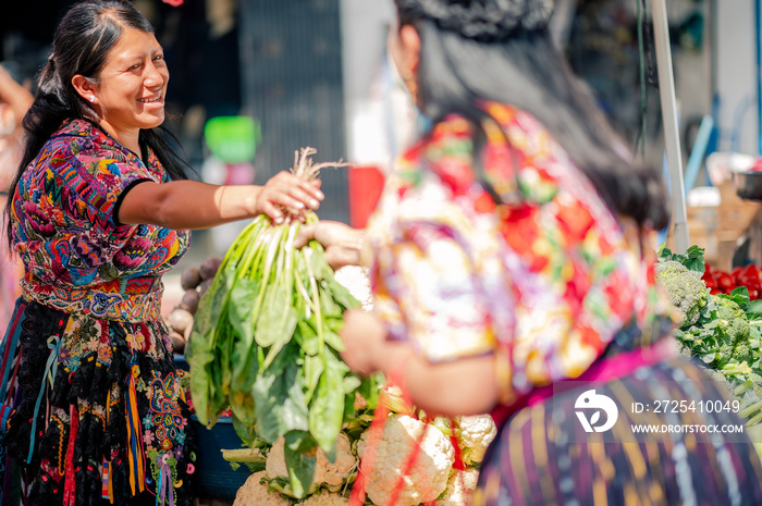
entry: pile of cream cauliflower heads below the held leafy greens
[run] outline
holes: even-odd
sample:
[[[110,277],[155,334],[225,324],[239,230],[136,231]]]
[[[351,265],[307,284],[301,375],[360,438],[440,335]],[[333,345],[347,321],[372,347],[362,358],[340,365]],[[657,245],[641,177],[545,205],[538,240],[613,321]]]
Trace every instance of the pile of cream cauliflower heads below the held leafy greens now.
[[[372,424],[373,410],[365,406],[359,407],[361,417],[344,424],[333,460],[317,451],[315,481],[302,497],[290,485],[287,441],[282,437],[261,448],[261,460],[249,466],[255,473],[238,490],[233,506],[467,506],[478,467],[497,432],[492,417],[430,420],[393,387],[380,391],[379,406],[376,414],[383,418]],[[456,455],[464,457],[463,466]],[[362,473],[365,497],[355,494]],[[359,503],[351,503],[351,496]]]

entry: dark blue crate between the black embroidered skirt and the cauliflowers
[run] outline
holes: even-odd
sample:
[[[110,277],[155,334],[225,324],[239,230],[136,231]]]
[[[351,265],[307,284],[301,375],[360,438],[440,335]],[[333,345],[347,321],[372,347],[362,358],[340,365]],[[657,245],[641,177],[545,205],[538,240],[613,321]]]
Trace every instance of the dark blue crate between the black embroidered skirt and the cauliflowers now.
[[[235,493],[251,472],[245,465],[234,471],[230,462],[222,458],[222,449],[244,447],[233,429],[233,419],[220,417],[211,429],[199,423],[196,416],[190,420],[198,446],[195,462],[196,494],[205,498],[234,499]]]

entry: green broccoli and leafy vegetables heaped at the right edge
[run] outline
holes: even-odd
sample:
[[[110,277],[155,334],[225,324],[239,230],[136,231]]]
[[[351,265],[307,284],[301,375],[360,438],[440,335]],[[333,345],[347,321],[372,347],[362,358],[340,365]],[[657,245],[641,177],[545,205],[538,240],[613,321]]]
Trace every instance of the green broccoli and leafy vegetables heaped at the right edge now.
[[[680,353],[698,358],[710,373],[728,383],[740,403],[747,425],[762,421],[762,300],[752,300],[746,286],[728,293],[709,288],[703,249],[684,255],[663,248],[654,267],[679,314],[676,336]],[[739,271],[740,272],[740,271]]]

